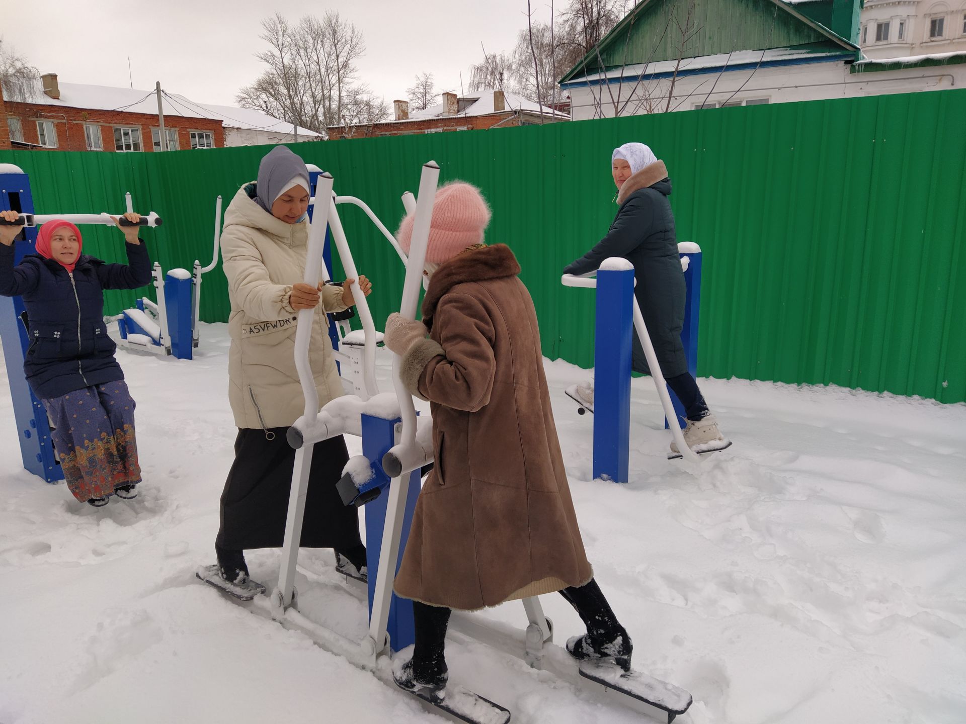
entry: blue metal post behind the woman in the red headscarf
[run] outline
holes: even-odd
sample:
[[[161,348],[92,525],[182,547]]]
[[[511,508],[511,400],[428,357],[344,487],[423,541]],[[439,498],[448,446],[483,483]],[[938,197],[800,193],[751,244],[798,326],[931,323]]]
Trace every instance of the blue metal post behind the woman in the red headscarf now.
[[[10,168],[8,166],[8,168]],[[34,212],[34,198],[30,179],[24,173],[0,174],[0,210]],[[33,254],[37,243],[37,229],[26,229],[26,240],[15,241],[14,264],[25,254]],[[10,396],[14,403],[14,420],[20,443],[23,467],[47,483],[64,480],[57,454],[50,439],[47,412],[34,396],[23,374],[23,359],[29,342],[27,330],[20,320],[25,307],[19,296],[0,296],[0,338],[3,339],[4,362],[10,382]]]

